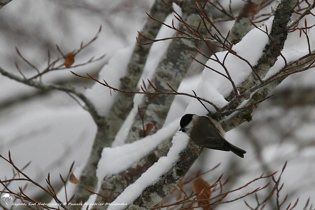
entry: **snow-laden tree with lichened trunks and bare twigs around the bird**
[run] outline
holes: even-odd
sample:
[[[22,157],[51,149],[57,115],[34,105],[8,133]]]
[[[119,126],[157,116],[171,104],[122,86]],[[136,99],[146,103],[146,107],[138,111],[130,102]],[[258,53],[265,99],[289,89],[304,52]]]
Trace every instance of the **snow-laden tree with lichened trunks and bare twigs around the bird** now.
[[[277,1],[277,7],[275,7],[271,13],[260,16],[266,18],[267,21],[263,26],[258,26],[256,24],[259,21],[257,20],[258,17],[255,17],[255,14],[257,14],[261,8],[269,5],[271,1],[258,1],[258,3],[253,4],[250,0],[248,0],[243,8],[244,10],[241,11],[237,18],[234,17],[232,13],[231,3],[229,5],[229,9],[226,9],[222,7],[219,1],[215,0],[204,2],[199,0],[175,1],[181,8],[182,14],[180,14],[180,12],[177,12],[174,7],[170,5],[171,1],[162,0],[162,3],[158,2],[159,1],[157,0],[154,3],[151,13],[148,14],[149,18],[144,29],[139,32],[139,37],[137,37],[138,43],[136,44],[130,57],[127,74],[121,79],[122,82],[119,87],[111,86],[105,80],[100,81],[89,74],[88,76],[82,76],[72,72],[78,77],[94,80],[102,86],[109,88],[110,91],[120,92],[117,98],[115,98],[115,102],[113,103],[111,111],[106,119],[100,116],[94,104],[90,102],[83,93],[76,91],[72,87],[44,84],[41,80],[42,75],[50,71],[73,68],[103,58],[103,56],[96,59],[91,58],[85,63],[72,65],[77,53],[95,41],[100,33],[100,30],[91,39],[91,41],[85,45],[81,43],[80,47],[72,52],[64,54],[60,50],[60,47],[56,46],[60,56],[53,61],[51,61],[50,53],[48,51],[48,64],[43,70],[40,70],[31,64],[16,48],[20,58],[22,58],[32,67],[32,69],[36,71],[36,74],[29,78],[26,77],[23,71],[19,68],[18,64],[16,64],[16,68],[20,72],[21,76],[14,75],[0,67],[0,73],[2,75],[18,82],[41,90],[54,89],[64,91],[70,94],[78,103],[80,103],[77,100],[77,98],[79,98],[85,103],[85,105],[81,106],[89,111],[98,125],[98,131],[92,147],[91,155],[87,160],[87,164],[83,169],[79,184],[75,190],[76,195],[70,199],[68,199],[66,195],[66,203],[72,199],[74,202],[86,201],[92,193],[102,197],[103,199],[109,199],[110,201],[115,200],[114,202],[128,202],[128,204],[130,204],[130,209],[147,209],[154,207],[157,202],[161,201],[164,196],[169,194],[169,192],[178,186],[180,180],[198,158],[199,154],[203,151],[203,148],[196,146],[192,141],[188,141],[187,136],[177,133],[173,138],[173,145],[169,151],[168,149],[161,150],[159,148],[154,148],[153,150],[152,148],[141,148],[143,150],[139,152],[138,156],[132,158],[128,158],[129,156],[124,157],[128,158],[128,161],[125,161],[126,163],[124,165],[117,168],[119,170],[105,172],[101,169],[106,166],[109,158],[105,158],[105,162],[103,162],[103,160],[100,161],[102,151],[102,156],[104,157],[106,157],[108,153],[115,153],[116,149],[123,150],[126,153],[126,151],[129,152],[131,149],[138,149],[141,143],[153,138],[154,135],[150,136],[150,132],[157,132],[156,136],[159,136],[161,132],[164,132],[161,128],[166,118],[165,113],[168,112],[175,95],[185,95],[194,99],[186,109],[186,113],[209,114],[210,116],[220,120],[226,131],[231,130],[242,122],[246,120],[249,121],[251,113],[256,106],[266,100],[266,98],[268,98],[268,93],[280,84],[286,77],[314,67],[315,52],[311,48],[307,30],[315,25],[308,26],[305,20],[305,26],[298,27],[298,22],[303,17],[308,14],[313,15],[311,9],[314,8],[314,3],[310,4],[305,1],[308,4],[308,7],[301,8],[298,0]],[[298,5],[298,8],[295,9],[296,5]],[[164,6],[164,8],[162,6]],[[235,32],[236,34],[237,31],[232,33],[228,32],[225,35],[215,25],[215,23],[219,20],[215,20],[214,17],[209,17],[209,8],[220,11],[226,16],[225,20],[236,19],[237,21],[239,20],[239,22],[242,22],[240,19],[246,18],[246,21],[248,21],[251,25],[249,26],[245,24],[242,26],[245,28],[245,33],[248,32],[250,27],[254,27],[254,29],[249,31],[246,36],[244,36],[244,33],[236,38],[234,35],[233,37],[232,33]],[[248,16],[248,14],[245,13],[245,8],[250,8],[253,14]],[[164,23],[165,17],[170,11],[174,13],[175,19],[177,19],[180,23],[179,27],[177,27],[174,21],[172,24]],[[300,14],[300,16],[289,23],[293,12]],[[271,15],[274,16],[270,17]],[[234,25],[235,27],[237,27],[237,21]],[[159,31],[161,25],[173,29],[175,36],[156,39],[157,32]],[[240,28],[241,26],[239,26],[238,30]],[[308,52],[295,53],[295,56],[290,57],[290,52],[283,52],[282,49],[288,32],[294,31],[300,31],[301,35],[306,36]],[[148,80],[149,85],[146,85],[145,82],[143,82],[143,85],[140,86],[142,91],[138,91],[139,87],[137,87],[137,84],[150,50],[149,44],[167,39],[171,39],[171,43],[165,56],[155,69],[153,79]],[[241,39],[242,41],[238,42]],[[257,39],[260,40],[260,43],[257,43]],[[147,40],[149,41],[146,42]],[[235,44],[236,42],[238,43]],[[201,51],[198,46],[200,43],[203,43],[206,47],[208,47],[210,55],[209,53],[206,54]],[[215,52],[214,47],[219,47],[224,51]],[[196,57],[198,53],[207,58],[208,62],[201,62]],[[193,60],[204,66],[202,79],[198,88],[193,91],[193,94],[179,92],[177,91],[178,86],[186,75],[186,72]],[[278,64],[277,62],[280,62],[280,60],[282,63]],[[138,115],[132,123],[133,127],[129,130],[126,142],[131,143],[141,137],[146,137],[138,142],[124,145],[116,149],[105,148],[103,150],[103,147],[111,146],[119,128],[122,126],[124,120],[132,110],[133,97],[135,94],[143,94],[144,97],[139,106],[135,107],[138,108]],[[143,132],[145,131],[145,124],[150,124],[152,126],[149,129],[146,129],[146,132]],[[167,128],[165,127],[165,129]],[[172,124],[172,128],[168,130],[171,134],[167,132],[163,133],[163,135],[167,136],[158,139],[155,143],[161,145],[169,143],[169,137],[170,135],[173,135],[175,130],[176,124],[174,123]],[[150,145],[150,142],[146,143]],[[182,148],[183,146],[185,146],[184,149]],[[3,156],[0,157],[3,158]],[[112,158],[113,156],[110,155],[108,157]],[[14,165],[10,156],[9,160],[5,158],[3,159],[9,162],[16,170],[19,171],[19,173],[22,174],[22,170],[18,169]],[[99,163],[99,170],[97,172],[98,180],[103,180],[104,176],[106,177],[101,183],[100,191],[94,192],[98,181],[96,177],[97,163]],[[112,168],[114,167],[112,166]],[[119,179],[122,176],[119,176],[120,174],[117,173],[122,173],[122,171],[125,173],[125,177],[128,177],[128,180],[126,180],[126,178],[122,178],[121,180]],[[37,185],[39,188],[47,192],[49,196],[53,197],[56,202],[61,203],[50,184],[49,176],[47,178],[49,186],[46,189],[41,185],[34,183],[26,176],[26,174],[23,175],[26,178],[22,178],[22,180],[25,179],[26,181],[30,181],[31,183]],[[109,177],[108,175],[112,176]],[[269,176],[261,176],[258,179],[268,177],[272,177],[272,181],[274,183],[274,188],[270,193],[270,196],[276,192],[277,206],[280,208],[283,204],[283,202],[279,202],[278,200],[278,194],[282,188],[281,186],[279,187],[280,177],[276,180],[274,178],[274,174],[270,174]],[[69,178],[69,174],[66,180],[62,177],[60,178],[64,184],[64,190],[66,191],[66,180]],[[9,188],[6,188],[3,184],[10,181],[15,181],[15,178],[6,181],[0,180],[0,183],[5,187],[5,190],[13,194],[14,192],[9,191]],[[121,185],[117,185],[117,182],[121,182]],[[129,185],[133,182],[135,183]],[[250,183],[251,182],[248,184]],[[129,187],[127,187],[128,185]],[[247,185],[244,185],[243,187],[245,186]],[[249,193],[235,199],[241,199],[245,196],[255,194],[256,192],[264,189],[266,186],[267,185],[257,188],[254,191],[250,191]],[[202,203],[203,201],[199,199],[199,196],[203,193],[203,191],[198,191],[195,192],[193,196],[187,196],[184,192],[186,200],[181,203],[175,203],[174,205],[181,204],[192,207],[197,202],[198,206],[193,206],[193,208],[195,208],[214,206],[221,203],[235,201],[235,199],[228,201],[223,200],[227,194],[233,191],[223,192],[221,177],[219,177],[217,182],[213,185],[210,185],[209,189],[215,189],[215,187],[217,187],[216,189],[219,191],[219,194],[211,199],[205,199],[206,202],[209,203]],[[212,190],[214,191],[214,189]],[[238,189],[239,188],[235,189],[235,191]],[[111,193],[110,197],[106,196],[108,192]],[[130,194],[133,196],[131,197]],[[14,195],[20,196],[23,200],[34,202],[34,200],[23,193],[23,189],[21,188],[20,194],[15,193]],[[268,200],[267,198],[266,200]],[[213,199],[216,200],[213,201]],[[259,201],[258,198],[256,198],[256,208],[251,207],[246,202],[245,203],[249,208],[257,209],[258,207],[263,207],[266,200]],[[291,208],[294,208],[295,205],[296,204],[294,204]],[[307,205],[308,203],[306,206]],[[161,204],[157,208],[160,207],[167,206]],[[45,208],[51,209],[50,207]],[[63,208],[67,209],[66,206]],[[289,209],[290,206],[287,208]]]

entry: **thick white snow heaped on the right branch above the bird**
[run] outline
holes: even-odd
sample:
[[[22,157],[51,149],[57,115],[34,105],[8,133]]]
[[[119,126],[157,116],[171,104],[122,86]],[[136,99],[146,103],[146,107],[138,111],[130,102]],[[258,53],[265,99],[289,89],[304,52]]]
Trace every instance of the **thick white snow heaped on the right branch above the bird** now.
[[[272,20],[273,17],[268,19],[265,23],[268,29],[271,28]],[[261,26],[263,30],[265,29],[265,25]],[[259,42],[257,40],[259,40]],[[243,39],[232,49],[237,52],[238,55],[247,59],[253,66],[261,57],[262,49],[264,49],[267,42],[268,36],[261,30],[254,28],[249,31],[249,33],[246,34],[246,36],[244,36]],[[226,51],[216,53],[216,56],[221,63],[223,63],[226,53]],[[215,56],[211,56],[211,58],[215,58]],[[224,68],[219,63],[213,60],[208,60],[206,64],[209,67],[226,75]],[[251,73],[251,68],[249,65],[245,61],[232,54],[227,55],[225,66],[236,86],[241,84],[241,82],[245,80]],[[207,68],[204,68],[201,78],[202,79],[199,82],[198,88],[196,89],[197,96],[204,97],[205,99],[215,103],[218,107],[223,107],[226,105],[227,101],[224,99],[224,97],[228,96],[228,94],[233,89],[231,82],[218,73]],[[207,108],[214,111],[214,108],[211,105],[206,102],[204,102],[204,104],[207,106]],[[185,113],[205,115],[207,110],[203,108],[198,100],[192,99]]]

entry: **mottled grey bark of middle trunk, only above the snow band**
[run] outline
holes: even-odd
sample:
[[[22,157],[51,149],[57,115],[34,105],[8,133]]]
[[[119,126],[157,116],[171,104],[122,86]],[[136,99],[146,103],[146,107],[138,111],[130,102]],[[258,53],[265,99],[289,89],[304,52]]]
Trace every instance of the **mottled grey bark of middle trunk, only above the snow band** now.
[[[180,16],[177,13],[175,16],[178,16],[179,20],[186,22],[188,25],[195,24],[200,21],[200,18],[195,10],[195,4],[195,1],[182,1],[182,15]],[[169,7],[172,8],[170,5]],[[180,30],[186,32],[189,31],[184,24],[180,24],[179,28]],[[203,28],[200,28],[200,32],[205,33]],[[163,58],[157,65],[154,74],[152,75],[152,84],[154,84],[154,86],[160,91],[169,91],[169,86],[165,83],[165,81],[170,81],[169,84],[176,90],[180,85],[181,80],[186,75],[186,72],[192,62],[192,58],[190,58],[189,55],[196,54],[194,46],[197,45],[198,41],[195,40],[172,40]],[[153,88],[148,86],[148,91],[151,90],[153,90]],[[154,127],[151,130],[153,133],[163,126],[166,118],[164,113],[167,113],[169,110],[173,99],[174,96],[157,95],[151,97],[150,95],[146,95],[138,105],[140,110],[144,113],[145,123],[154,124]],[[148,102],[150,102],[150,104],[148,104]],[[125,142],[130,143],[143,136],[141,135],[143,129],[142,124],[143,122],[141,117],[137,115],[132,123],[132,127]]]

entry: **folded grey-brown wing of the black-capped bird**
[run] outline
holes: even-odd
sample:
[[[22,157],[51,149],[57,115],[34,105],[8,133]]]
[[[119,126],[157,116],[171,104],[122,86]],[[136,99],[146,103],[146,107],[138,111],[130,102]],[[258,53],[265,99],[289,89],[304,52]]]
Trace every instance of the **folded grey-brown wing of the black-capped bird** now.
[[[199,117],[193,127],[190,137],[195,144],[209,149],[230,151],[226,140],[208,117]]]

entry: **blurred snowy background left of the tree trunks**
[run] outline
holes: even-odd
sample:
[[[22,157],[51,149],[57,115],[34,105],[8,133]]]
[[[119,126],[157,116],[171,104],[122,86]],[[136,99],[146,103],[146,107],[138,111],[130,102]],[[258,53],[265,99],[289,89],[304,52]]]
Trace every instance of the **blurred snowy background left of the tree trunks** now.
[[[35,69],[19,57],[15,47],[38,69],[44,69],[48,49],[52,60],[58,54],[56,44],[64,54],[78,49],[81,41],[90,41],[101,25],[98,39],[78,54],[75,64],[92,56],[106,56],[74,69],[97,76],[116,50],[134,45],[137,30],[152,3],[153,0],[12,1],[0,10],[0,66],[19,75],[16,62],[23,74],[35,75]],[[69,70],[50,72],[42,79],[75,86],[81,91],[93,84],[75,77]],[[106,100],[111,100],[109,95],[100,96],[100,101]],[[83,164],[95,133],[96,125],[89,113],[66,93],[39,91],[0,76],[0,154],[7,157],[10,150],[19,167],[31,161],[25,172],[35,181],[45,185],[44,177],[50,172],[53,183],[60,188],[59,173],[67,174],[73,161],[75,167]],[[11,166],[0,161],[0,179],[11,176]],[[17,183],[11,185],[18,190]],[[26,191],[38,196],[38,189],[32,186]]]

